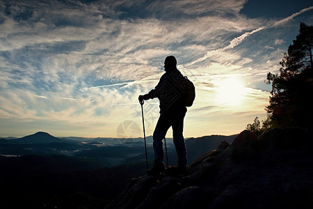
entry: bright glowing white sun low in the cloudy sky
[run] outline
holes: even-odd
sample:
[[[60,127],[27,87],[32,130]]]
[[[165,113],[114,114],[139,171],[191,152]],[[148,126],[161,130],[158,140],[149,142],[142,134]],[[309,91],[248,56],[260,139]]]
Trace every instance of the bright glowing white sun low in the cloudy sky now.
[[[216,81],[215,86],[215,102],[224,106],[238,106],[248,92],[237,75],[222,77]]]

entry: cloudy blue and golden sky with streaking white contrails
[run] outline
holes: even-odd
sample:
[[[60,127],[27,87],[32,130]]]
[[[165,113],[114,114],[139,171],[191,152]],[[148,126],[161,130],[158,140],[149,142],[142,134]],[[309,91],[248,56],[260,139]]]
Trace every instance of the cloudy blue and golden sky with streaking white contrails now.
[[[138,95],[168,55],[196,88],[184,137],[239,134],[266,118],[300,22],[312,1],[0,0],[0,136],[143,137]],[[149,136],[157,98],[143,111]]]

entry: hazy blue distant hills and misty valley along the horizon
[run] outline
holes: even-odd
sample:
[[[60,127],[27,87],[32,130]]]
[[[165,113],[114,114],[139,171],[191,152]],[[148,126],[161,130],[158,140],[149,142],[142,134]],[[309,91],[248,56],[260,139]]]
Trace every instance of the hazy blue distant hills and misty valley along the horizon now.
[[[76,140],[75,140],[76,139]],[[154,151],[152,136],[147,137],[148,160],[152,164]],[[188,163],[200,155],[213,150],[225,140],[231,142],[234,136],[213,135],[186,139]],[[177,153],[171,138],[166,139],[168,163],[177,163]],[[104,167],[115,167],[121,164],[133,164],[145,160],[143,138],[109,139],[109,138],[58,138],[47,132],[36,132],[19,139],[1,139],[0,155],[67,155],[88,159]]]

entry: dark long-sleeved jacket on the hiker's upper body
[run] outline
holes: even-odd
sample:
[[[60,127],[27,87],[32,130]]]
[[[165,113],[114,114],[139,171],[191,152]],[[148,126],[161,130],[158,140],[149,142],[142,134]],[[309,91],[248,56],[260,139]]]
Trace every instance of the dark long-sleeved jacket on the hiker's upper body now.
[[[151,99],[159,98],[160,113],[176,113],[186,112],[184,102],[182,102],[182,95],[184,94],[184,76],[177,70],[166,71],[157,86],[149,92]]]

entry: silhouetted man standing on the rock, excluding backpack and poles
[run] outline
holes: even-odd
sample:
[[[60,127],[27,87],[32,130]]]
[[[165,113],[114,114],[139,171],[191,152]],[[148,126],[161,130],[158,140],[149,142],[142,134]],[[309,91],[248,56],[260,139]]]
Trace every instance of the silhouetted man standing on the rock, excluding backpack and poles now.
[[[163,162],[163,139],[172,126],[172,137],[178,155],[177,171],[186,173],[187,156],[184,142],[183,129],[186,107],[182,100],[184,93],[184,76],[177,70],[175,56],[167,56],[164,61],[166,71],[159,83],[149,93],[139,95],[138,100],[159,98],[160,116],[153,132],[154,167],[148,174],[157,174],[166,170]]]

